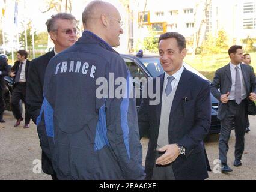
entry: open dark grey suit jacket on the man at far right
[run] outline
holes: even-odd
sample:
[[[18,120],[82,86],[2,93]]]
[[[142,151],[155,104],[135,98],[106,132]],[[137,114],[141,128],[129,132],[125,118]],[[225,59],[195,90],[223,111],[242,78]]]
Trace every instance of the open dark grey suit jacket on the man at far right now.
[[[252,67],[246,64],[241,64],[241,70],[243,79],[245,80],[246,94],[249,96],[251,92],[256,92],[256,79],[254,71],[252,70]],[[210,85],[213,96],[219,100],[218,118],[220,120],[225,118],[228,107],[227,103],[225,104],[221,102],[221,95],[230,92],[231,86],[232,77],[230,64],[228,64],[216,71],[213,82]]]

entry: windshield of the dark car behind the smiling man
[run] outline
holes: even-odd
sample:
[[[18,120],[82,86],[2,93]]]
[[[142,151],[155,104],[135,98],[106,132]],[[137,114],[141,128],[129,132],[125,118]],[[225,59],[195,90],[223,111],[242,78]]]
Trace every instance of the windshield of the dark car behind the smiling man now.
[[[160,74],[164,73],[162,65],[160,64],[159,57],[151,57],[151,58],[139,58],[139,60],[144,64],[145,68],[147,68],[148,72],[151,74],[152,77],[160,76]],[[191,71],[192,73],[197,74],[201,78],[208,80],[203,74],[199,73],[189,64],[183,62],[184,67]]]

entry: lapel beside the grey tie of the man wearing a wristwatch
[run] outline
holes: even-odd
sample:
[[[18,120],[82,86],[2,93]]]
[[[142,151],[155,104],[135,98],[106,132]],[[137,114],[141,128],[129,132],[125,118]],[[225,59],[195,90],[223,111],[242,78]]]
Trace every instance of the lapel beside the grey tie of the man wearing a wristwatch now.
[[[175,112],[176,108],[183,100],[185,92],[189,90],[189,73],[187,73],[186,68],[184,68],[183,73],[180,77],[180,82],[178,83],[177,90],[172,101],[171,113],[170,116]]]

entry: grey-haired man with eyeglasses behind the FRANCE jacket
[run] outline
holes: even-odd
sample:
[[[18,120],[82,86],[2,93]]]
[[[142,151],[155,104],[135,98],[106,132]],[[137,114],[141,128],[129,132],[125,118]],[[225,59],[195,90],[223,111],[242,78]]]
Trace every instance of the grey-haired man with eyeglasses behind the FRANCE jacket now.
[[[54,49],[39,58],[31,61],[29,67],[27,97],[28,110],[32,120],[36,123],[40,115],[40,109],[43,104],[43,83],[46,67],[53,56],[62,52],[64,49],[75,44],[77,40],[77,20],[72,14],[58,13],[47,20],[47,30],[54,43]],[[52,167],[51,154],[47,148],[47,137],[45,137],[44,123],[37,124],[38,136],[42,151],[42,169],[43,172],[52,175],[52,179],[58,179]]]

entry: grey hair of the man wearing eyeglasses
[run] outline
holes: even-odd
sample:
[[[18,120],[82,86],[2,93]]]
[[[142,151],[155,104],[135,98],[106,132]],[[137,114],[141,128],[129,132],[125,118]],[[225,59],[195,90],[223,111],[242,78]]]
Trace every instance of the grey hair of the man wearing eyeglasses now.
[[[48,19],[47,22],[45,23],[47,26],[48,33],[50,31],[56,30],[55,23],[56,23],[56,20],[59,20],[59,19],[73,20],[74,22],[77,23],[76,17],[69,13],[58,13],[58,14],[52,15],[52,17]]]

